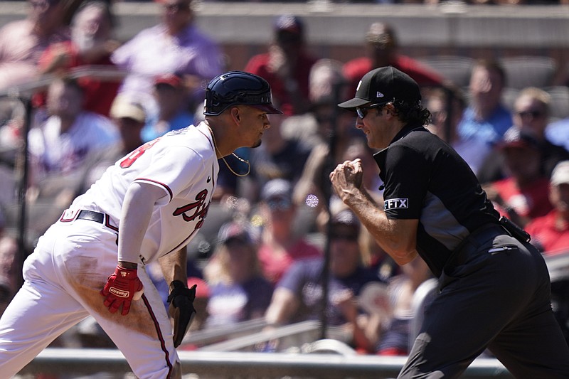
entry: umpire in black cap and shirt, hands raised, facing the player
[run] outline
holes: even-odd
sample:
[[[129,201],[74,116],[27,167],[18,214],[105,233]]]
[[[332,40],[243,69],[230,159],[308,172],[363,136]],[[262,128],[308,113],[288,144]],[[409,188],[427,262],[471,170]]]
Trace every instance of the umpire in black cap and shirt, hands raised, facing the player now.
[[[359,159],[331,172],[336,193],[399,265],[420,255],[440,279],[398,378],[457,378],[485,348],[516,378],[569,378],[543,258],[499,219],[468,164],[425,129],[417,83],[377,68],[339,107],[356,112],[368,145],[381,149],[384,204],[361,185]]]

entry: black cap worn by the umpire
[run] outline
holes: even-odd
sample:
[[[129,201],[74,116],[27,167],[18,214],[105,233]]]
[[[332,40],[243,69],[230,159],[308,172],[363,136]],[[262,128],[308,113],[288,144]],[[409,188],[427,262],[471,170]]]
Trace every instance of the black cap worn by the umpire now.
[[[421,101],[419,85],[409,75],[392,66],[371,70],[361,78],[356,96],[338,106],[356,112],[357,107],[373,104],[386,104],[400,100],[410,104]]]

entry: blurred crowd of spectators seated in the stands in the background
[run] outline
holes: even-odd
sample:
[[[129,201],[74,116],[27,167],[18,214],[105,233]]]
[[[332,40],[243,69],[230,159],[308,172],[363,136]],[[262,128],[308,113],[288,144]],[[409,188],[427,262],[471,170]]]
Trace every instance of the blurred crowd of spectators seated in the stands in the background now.
[[[112,4],[97,0],[29,0],[27,17],[0,29],[0,90],[44,83],[31,96],[31,114],[14,99],[0,102],[1,306],[19,287],[17,193],[26,165],[31,251],[117,159],[203,119],[204,83],[226,70],[227,57],[194,24],[191,0],[159,2],[161,21],[124,42],[115,39]],[[361,57],[331,60],[311,53],[307,27],[300,16],[279,16],[270,46],[241,68],[270,82],[285,114],[270,118],[259,148],[220,161],[215,202],[188,245],[188,285],[198,284],[193,330],[253,319],[276,328],[324,312],[360,353],[408,353],[415,292],[432,274],[420,257],[395,265],[331,193],[328,178],[336,164],[359,158],[363,185],[383,203],[376,151],[336,104],[384,65],[422,87],[428,128],[467,161],[496,209],[526,228],[544,255],[569,250],[569,97],[553,113],[553,83],[511,92],[507,67],[487,59],[473,60],[467,83],[456,82],[402,55],[395,26],[386,23],[368,27]],[[242,176],[245,159],[251,169]],[[165,301],[159,269],[147,269]],[[84,346],[112,346],[87,338],[102,333],[88,320],[76,332]]]

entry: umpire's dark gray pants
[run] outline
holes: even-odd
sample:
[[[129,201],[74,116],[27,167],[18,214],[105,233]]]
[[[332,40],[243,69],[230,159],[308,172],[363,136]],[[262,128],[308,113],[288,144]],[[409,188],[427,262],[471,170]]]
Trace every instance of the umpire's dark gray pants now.
[[[569,378],[541,254],[489,228],[454,254],[398,378],[457,378],[484,349],[516,377]]]

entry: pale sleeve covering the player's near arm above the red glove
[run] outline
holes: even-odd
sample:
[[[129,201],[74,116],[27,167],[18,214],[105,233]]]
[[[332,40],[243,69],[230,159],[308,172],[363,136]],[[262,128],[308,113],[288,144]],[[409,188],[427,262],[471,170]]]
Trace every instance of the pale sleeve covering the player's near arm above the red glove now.
[[[129,268],[124,263],[137,263],[139,260],[142,240],[147,232],[156,198],[149,185],[132,183],[124,196],[122,216],[119,227],[118,261],[122,267]],[[132,268],[132,267],[130,267]]]

